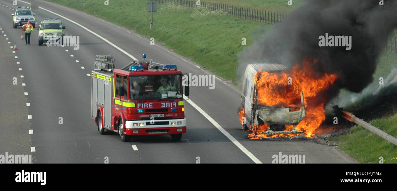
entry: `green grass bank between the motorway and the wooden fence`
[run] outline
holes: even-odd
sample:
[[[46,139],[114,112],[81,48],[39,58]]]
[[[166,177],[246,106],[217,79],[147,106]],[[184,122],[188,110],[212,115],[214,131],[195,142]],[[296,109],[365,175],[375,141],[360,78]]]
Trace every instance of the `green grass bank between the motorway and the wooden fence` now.
[[[146,0],[110,0],[108,6],[102,1],[85,0],[85,7],[76,1],[48,1],[135,30],[147,38],[153,37],[156,43],[161,42],[180,55],[191,57],[195,63],[229,80],[235,78],[237,53],[244,47],[241,39],[246,38],[245,46],[250,46],[253,42],[250,36],[258,27],[264,31],[272,27],[231,15],[191,17],[197,8],[158,4],[154,29],[150,29],[151,14],[146,10]]]

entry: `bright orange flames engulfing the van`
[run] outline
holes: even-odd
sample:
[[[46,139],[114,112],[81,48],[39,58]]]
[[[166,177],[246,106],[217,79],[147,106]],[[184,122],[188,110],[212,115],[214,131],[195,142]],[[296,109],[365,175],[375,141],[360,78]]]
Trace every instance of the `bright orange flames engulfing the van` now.
[[[323,95],[329,87],[335,83],[337,74],[317,74],[313,69],[318,64],[318,59],[304,59],[303,64],[296,65],[291,71],[286,73],[270,73],[268,71],[259,71],[254,77],[256,84],[256,97],[258,104],[282,107],[300,108],[301,90],[304,96],[304,105],[306,109],[306,117],[295,127],[296,130],[303,131],[306,138],[314,136],[314,131],[325,120],[324,106],[328,99]],[[288,81],[292,84],[288,84]],[[324,94],[326,95],[326,94]],[[241,112],[240,112],[241,113]],[[268,124],[252,127],[251,139],[275,138],[275,137],[291,137],[296,134],[283,135],[262,135],[268,128]],[[292,130],[293,125],[286,125],[285,131]]]

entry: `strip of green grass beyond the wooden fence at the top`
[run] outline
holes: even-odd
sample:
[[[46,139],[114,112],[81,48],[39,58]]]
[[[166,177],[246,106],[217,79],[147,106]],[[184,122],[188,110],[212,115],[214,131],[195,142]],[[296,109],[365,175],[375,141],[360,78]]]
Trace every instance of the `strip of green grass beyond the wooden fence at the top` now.
[[[292,0],[291,6],[287,4],[287,0],[204,0],[204,2],[229,4],[244,8],[272,11],[276,13],[291,13],[299,6],[302,6],[305,1]]]

